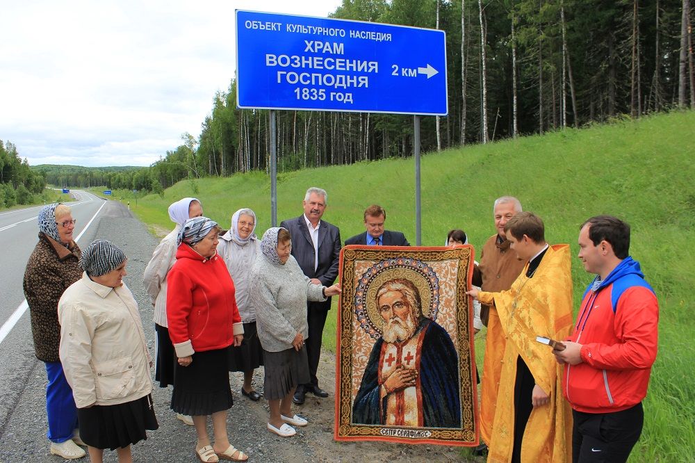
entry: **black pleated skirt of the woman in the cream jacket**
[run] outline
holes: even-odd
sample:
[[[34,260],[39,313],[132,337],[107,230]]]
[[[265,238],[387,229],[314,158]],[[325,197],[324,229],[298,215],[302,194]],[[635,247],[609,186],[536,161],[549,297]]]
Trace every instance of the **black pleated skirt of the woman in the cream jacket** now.
[[[80,438],[95,448],[117,448],[147,439],[146,430],[159,428],[152,395],[118,405],[95,405],[77,409]]]

